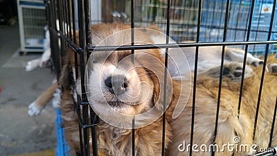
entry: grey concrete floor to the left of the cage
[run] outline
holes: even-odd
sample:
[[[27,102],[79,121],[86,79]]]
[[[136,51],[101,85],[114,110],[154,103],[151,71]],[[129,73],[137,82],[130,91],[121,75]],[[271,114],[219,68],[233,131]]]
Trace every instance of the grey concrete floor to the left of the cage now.
[[[39,116],[28,105],[49,87],[51,69],[2,67],[19,49],[18,27],[0,26],[0,155],[18,155],[56,147],[55,110],[48,104]]]

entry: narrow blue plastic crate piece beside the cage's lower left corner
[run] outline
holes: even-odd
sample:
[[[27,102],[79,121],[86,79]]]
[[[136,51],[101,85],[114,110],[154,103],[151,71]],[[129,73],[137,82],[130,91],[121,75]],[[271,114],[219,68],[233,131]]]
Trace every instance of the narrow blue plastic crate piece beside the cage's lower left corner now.
[[[66,145],[66,140],[64,139],[64,125],[62,123],[62,112],[56,109],[56,131],[57,131],[57,147],[55,148],[56,156],[70,156],[69,146]]]

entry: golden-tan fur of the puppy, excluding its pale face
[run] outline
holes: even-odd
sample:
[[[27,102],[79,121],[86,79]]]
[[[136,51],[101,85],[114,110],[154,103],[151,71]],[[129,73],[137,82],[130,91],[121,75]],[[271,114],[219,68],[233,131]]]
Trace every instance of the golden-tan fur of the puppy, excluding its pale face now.
[[[96,37],[93,39],[93,46],[100,40],[111,35],[114,31],[124,30],[129,28],[123,24],[98,24],[92,26],[91,36]],[[103,31],[104,30],[104,31]],[[104,33],[103,33],[104,32]],[[143,33],[141,36],[147,38]],[[128,39],[129,40],[129,39]],[[148,41],[149,42],[149,41]],[[116,44],[116,43],[114,43]],[[112,61],[115,63],[119,59],[129,55],[129,51],[118,52],[119,54],[113,54]],[[146,51],[155,58],[163,62],[160,54],[155,50]],[[151,64],[151,60],[144,60],[145,64]],[[273,58],[269,59],[269,62],[274,62]],[[72,151],[80,152],[80,135],[78,117],[76,114],[76,108],[71,96],[71,76],[74,67],[73,51],[69,51],[67,56],[67,63],[62,69],[62,76],[60,85],[62,86],[62,101],[61,110],[64,119],[64,130],[66,141]],[[158,71],[163,72],[164,67],[158,67]],[[80,71],[80,70],[79,70]],[[258,144],[260,147],[268,146],[269,132],[271,130],[271,121],[273,117],[274,104],[277,95],[277,79],[276,75],[272,73],[265,74],[265,80],[262,88],[262,96],[260,101],[260,112],[258,117],[258,124],[256,129],[256,139],[252,141],[253,134],[253,120],[255,118],[256,104],[258,97],[258,88],[260,84],[260,71],[261,67],[256,67],[254,72],[255,76],[244,80],[244,89],[242,96],[242,105],[240,108],[240,118],[238,119],[238,97],[240,91],[240,83],[233,82],[229,78],[224,78],[222,82],[222,92],[220,98],[220,114],[217,127],[217,137],[215,144],[223,145],[229,141],[233,143],[233,137],[238,135],[241,139],[241,144]],[[139,75],[149,74],[150,71],[139,70]],[[80,77],[80,76],[79,76]],[[158,79],[156,76],[150,76],[150,78],[143,77],[143,80],[151,84],[153,89],[153,101],[149,105],[157,107],[157,110],[161,110],[161,101],[157,100],[159,95],[163,94],[159,92]],[[78,81],[78,80],[77,80]],[[172,112],[178,101],[180,94],[181,83],[185,89],[189,90],[191,82],[179,82],[177,80],[172,81],[173,96],[171,105],[166,112],[166,155],[188,155],[188,153],[179,153],[178,146],[186,141],[189,144],[190,141],[190,121],[191,121],[191,109],[192,109],[192,96],[190,96],[184,112],[181,113],[177,119],[172,119]],[[188,84],[188,85],[186,85]],[[187,88],[186,88],[187,87]],[[163,89],[161,89],[163,90]],[[195,125],[194,125],[194,137],[193,144],[213,144],[213,133],[215,126],[215,111],[217,105],[217,92],[218,92],[218,79],[211,78],[202,74],[197,78],[197,92],[195,103]],[[192,95],[192,89],[191,93]],[[149,108],[148,108],[149,109]],[[147,110],[143,110],[147,111]],[[100,119],[97,126],[98,132],[98,155],[132,155],[132,130],[116,128],[114,126],[105,123]],[[274,130],[274,136],[276,136],[276,128]],[[162,136],[162,119],[159,118],[154,123],[147,125],[143,128],[137,128],[135,130],[135,148],[136,155],[161,155],[161,136]],[[273,145],[276,145],[277,138],[274,137]],[[90,150],[92,151],[92,149]],[[74,154],[74,153],[73,153]],[[225,151],[224,153],[217,153],[217,155],[230,155]],[[239,153],[235,153],[236,155]],[[245,154],[245,153],[244,153]],[[193,155],[210,155],[209,153],[193,153]]]

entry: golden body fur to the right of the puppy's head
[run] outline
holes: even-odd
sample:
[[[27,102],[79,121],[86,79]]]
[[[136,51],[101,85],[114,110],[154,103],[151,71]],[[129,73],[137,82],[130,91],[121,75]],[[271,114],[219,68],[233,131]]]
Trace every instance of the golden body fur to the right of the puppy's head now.
[[[268,58],[268,62],[277,62],[274,55]],[[218,79],[199,76],[197,78],[196,102],[195,102],[195,124],[193,130],[193,144],[207,146],[215,143],[219,147],[223,144],[235,144],[235,136],[240,137],[240,144],[257,144],[259,148],[267,148],[269,145],[269,135],[274,114],[274,107],[277,95],[276,73],[265,73],[265,80],[262,86],[262,96],[260,98],[260,110],[256,128],[256,136],[253,141],[253,128],[258,103],[258,91],[260,87],[262,67],[254,67],[255,75],[244,79],[242,103],[240,107],[240,118],[238,119],[238,100],[240,94],[240,83],[230,81],[226,78],[222,82],[220,96],[220,113],[217,125],[217,136],[213,142],[215,128],[215,113],[217,108]],[[182,82],[183,84],[186,82]],[[189,83],[189,82],[187,82]],[[178,85],[175,85],[175,94],[178,92]],[[191,95],[193,90],[191,89]],[[168,155],[188,155],[185,151],[180,153],[179,144],[190,144],[190,125],[192,116],[192,96],[188,100],[184,112],[177,119],[169,119],[172,126],[173,138],[167,153]],[[170,108],[174,108],[173,102]],[[172,112],[172,110],[169,110]],[[275,123],[276,125],[276,123]],[[277,144],[277,128],[274,128],[272,145]],[[238,144],[238,145],[240,145]],[[222,148],[220,148],[222,149]],[[199,148],[198,148],[199,150]],[[251,153],[251,151],[250,151]],[[231,155],[225,148],[224,152],[217,155]],[[235,153],[235,155],[245,155],[246,153]],[[253,153],[252,153],[253,154]],[[209,153],[193,153],[193,155],[210,155]]]

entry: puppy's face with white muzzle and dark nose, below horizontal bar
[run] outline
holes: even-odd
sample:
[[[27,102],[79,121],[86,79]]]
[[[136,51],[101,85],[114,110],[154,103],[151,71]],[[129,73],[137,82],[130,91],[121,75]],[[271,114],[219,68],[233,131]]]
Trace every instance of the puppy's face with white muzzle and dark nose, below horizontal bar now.
[[[89,87],[97,112],[111,109],[111,112],[135,115],[149,110],[153,103],[153,80],[157,78],[144,67],[133,67],[131,51],[98,52],[93,57]]]

